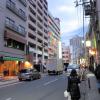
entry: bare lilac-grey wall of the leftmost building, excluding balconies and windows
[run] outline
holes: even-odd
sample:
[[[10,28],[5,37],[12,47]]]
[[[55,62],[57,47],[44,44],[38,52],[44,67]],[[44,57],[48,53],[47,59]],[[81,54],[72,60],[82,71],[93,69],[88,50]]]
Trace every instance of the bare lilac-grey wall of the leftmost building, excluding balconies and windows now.
[[[8,53],[3,53],[2,55],[4,56],[25,58],[25,50],[21,51],[21,50],[17,50],[13,48],[8,48],[5,46],[5,40],[4,40],[5,31],[9,31],[9,32],[12,32],[13,34],[17,34],[16,32],[11,31],[5,27],[6,17],[15,21],[16,26],[22,25],[26,29],[26,21],[22,20],[18,15],[16,15],[14,12],[12,12],[11,10],[7,8],[8,2],[9,0],[0,1],[0,51],[1,51],[1,54],[2,52],[8,52]],[[23,6],[19,0],[13,0],[13,2],[16,4],[17,9],[21,8],[25,12],[26,7]],[[25,37],[22,37],[20,35],[17,35],[17,36],[20,37],[21,39],[26,40]]]

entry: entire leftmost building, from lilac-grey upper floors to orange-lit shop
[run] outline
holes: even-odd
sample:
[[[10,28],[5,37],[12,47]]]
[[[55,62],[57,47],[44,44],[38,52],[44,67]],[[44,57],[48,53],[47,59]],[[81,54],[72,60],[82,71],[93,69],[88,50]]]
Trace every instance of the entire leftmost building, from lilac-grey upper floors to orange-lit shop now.
[[[26,9],[26,0],[0,0],[0,73],[4,75],[16,74],[25,60]]]

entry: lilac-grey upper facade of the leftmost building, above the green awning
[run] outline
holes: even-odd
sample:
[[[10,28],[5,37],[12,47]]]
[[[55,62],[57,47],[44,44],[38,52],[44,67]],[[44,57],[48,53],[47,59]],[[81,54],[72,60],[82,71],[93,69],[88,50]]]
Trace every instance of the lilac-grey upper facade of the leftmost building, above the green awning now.
[[[21,0],[0,1],[0,56],[25,58],[26,6]]]

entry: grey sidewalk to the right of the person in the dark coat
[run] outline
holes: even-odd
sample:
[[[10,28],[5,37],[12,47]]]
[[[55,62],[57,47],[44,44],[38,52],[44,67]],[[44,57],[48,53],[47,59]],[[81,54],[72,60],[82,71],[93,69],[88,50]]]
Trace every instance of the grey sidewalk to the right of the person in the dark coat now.
[[[81,82],[80,90],[80,100],[100,100],[96,77],[89,71],[86,73],[86,80]]]

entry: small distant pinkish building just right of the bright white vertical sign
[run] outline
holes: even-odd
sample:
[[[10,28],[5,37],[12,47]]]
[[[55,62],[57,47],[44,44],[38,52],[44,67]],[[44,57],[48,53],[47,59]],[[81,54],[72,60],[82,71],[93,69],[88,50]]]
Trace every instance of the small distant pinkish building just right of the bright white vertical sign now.
[[[69,64],[71,62],[70,48],[64,43],[62,43],[62,59],[64,65]]]

